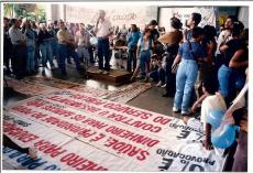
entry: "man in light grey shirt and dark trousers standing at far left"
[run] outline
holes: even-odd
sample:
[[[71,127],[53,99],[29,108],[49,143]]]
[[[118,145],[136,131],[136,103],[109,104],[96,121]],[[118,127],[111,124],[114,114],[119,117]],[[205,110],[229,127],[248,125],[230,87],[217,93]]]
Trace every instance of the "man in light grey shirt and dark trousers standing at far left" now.
[[[22,79],[25,75],[26,62],[26,42],[20,31],[20,22],[16,19],[11,20],[12,26],[9,30],[11,43],[13,45],[12,69],[18,79]]]

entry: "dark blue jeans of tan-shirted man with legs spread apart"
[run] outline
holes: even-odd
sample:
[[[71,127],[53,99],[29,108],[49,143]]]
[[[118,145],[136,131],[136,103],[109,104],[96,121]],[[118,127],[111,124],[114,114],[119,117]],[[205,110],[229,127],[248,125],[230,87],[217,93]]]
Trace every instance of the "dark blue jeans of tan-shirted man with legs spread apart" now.
[[[72,56],[74,58],[75,64],[76,64],[76,69],[77,71],[80,69],[80,62],[79,62],[78,55],[75,52],[75,50],[72,50],[70,47],[68,47],[65,44],[58,44],[58,52],[59,52],[58,66],[59,66],[59,69],[62,71],[62,73],[66,73],[65,60],[66,60],[66,57],[69,57],[69,56]]]

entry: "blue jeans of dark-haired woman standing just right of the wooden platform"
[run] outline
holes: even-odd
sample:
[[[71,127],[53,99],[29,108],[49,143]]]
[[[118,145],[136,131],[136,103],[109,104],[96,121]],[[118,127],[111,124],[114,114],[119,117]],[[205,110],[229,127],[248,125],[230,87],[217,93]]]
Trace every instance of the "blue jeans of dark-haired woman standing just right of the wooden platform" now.
[[[145,72],[150,69],[150,62],[151,62],[151,52],[150,51],[142,51],[140,55],[140,60],[138,62],[138,66],[141,67],[141,75],[145,76]]]

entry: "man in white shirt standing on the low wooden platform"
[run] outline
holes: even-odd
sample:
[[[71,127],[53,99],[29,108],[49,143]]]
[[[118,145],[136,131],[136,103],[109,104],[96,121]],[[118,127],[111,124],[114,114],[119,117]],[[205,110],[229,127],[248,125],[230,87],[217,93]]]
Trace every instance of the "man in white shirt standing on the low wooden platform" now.
[[[99,18],[96,23],[96,34],[98,37],[98,58],[99,71],[98,73],[109,74],[110,71],[110,44],[109,36],[112,34],[111,22],[106,19],[106,12],[99,11]],[[103,65],[105,57],[105,65]],[[103,72],[105,71],[105,72]]]

